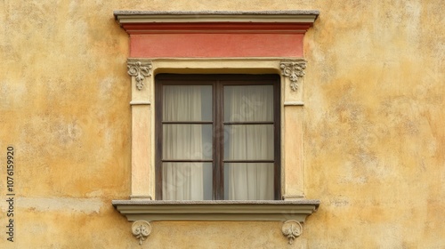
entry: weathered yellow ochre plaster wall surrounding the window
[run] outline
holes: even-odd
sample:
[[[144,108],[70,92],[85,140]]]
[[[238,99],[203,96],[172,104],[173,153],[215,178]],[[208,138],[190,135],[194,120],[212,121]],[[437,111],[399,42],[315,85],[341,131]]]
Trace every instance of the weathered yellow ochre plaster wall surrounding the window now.
[[[306,196],[279,222],[154,222],[142,248],[445,247],[445,4],[437,1],[0,1],[0,248],[137,248],[128,37],[113,10],[317,9],[304,39]],[[6,241],[6,147],[15,235]]]

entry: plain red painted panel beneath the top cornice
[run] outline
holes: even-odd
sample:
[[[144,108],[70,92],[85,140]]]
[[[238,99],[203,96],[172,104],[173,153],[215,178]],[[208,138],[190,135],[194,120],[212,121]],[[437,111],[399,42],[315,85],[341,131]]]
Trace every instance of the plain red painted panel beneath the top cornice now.
[[[303,57],[303,34],[130,36],[131,57]]]

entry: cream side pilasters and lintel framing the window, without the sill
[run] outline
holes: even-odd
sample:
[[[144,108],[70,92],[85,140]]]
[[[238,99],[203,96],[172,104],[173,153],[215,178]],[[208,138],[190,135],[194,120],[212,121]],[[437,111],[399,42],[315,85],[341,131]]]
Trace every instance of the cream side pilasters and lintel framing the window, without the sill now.
[[[150,74],[132,75],[132,200],[155,199],[155,76],[179,74],[279,74],[281,111],[281,193],[284,200],[304,197],[303,84],[295,91],[294,80],[284,73],[283,63],[303,63],[295,58],[206,58],[128,59],[150,69]],[[145,66],[144,66],[145,65]],[[140,87],[143,81],[143,87]],[[150,131],[147,133],[147,131]],[[292,133],[292,136],[289,134]]]

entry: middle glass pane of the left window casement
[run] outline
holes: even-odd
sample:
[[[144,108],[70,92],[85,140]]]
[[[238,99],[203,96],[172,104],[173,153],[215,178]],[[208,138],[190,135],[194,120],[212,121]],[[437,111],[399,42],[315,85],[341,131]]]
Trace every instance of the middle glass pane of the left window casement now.
[[[162,159],[212,159],[212,124],[163,124]]]

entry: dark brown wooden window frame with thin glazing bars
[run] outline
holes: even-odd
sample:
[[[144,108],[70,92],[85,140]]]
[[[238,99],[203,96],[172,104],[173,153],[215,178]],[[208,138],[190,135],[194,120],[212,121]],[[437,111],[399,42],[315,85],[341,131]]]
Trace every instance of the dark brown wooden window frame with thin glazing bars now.
[[[181,81],[181,83],[178,83]],[[209,82],[212,82],[211,84]],[[244,84],[241,84],[243,82]],[[273,135],[274,135],[274,199],[281,199],[281,143],[280,143],[280,77],[279,75],[235,75],[235,74],[158,74],[155,76],[155,171],[156,171],[156,199],[162,199],[162,85],[212,85],[213,86],[213,120],[212,122],[176,122],[182,124],[213,124],[213,158],[211,160],[191,160],[192,162],[212,162],[213,175],[213,199],[224,199],[224,162],[223,160],[223,86],[224,85],[273,85]],[[252,122],[250,122],[252,123]],[[239,124],[250,124],[243,122]],[[238,124],[238,123],[237,123]],[[261,123],[263,124],[263,122]],[[180,160],[186,162],[190,160]],[[242,162],[254,161],[262,162],[262,160],[242,160]],[[231,161],[233,163],[234,161]],[[241,162],[237,160],[236,162]],[[268,160],[269,163],[272,163]]]

